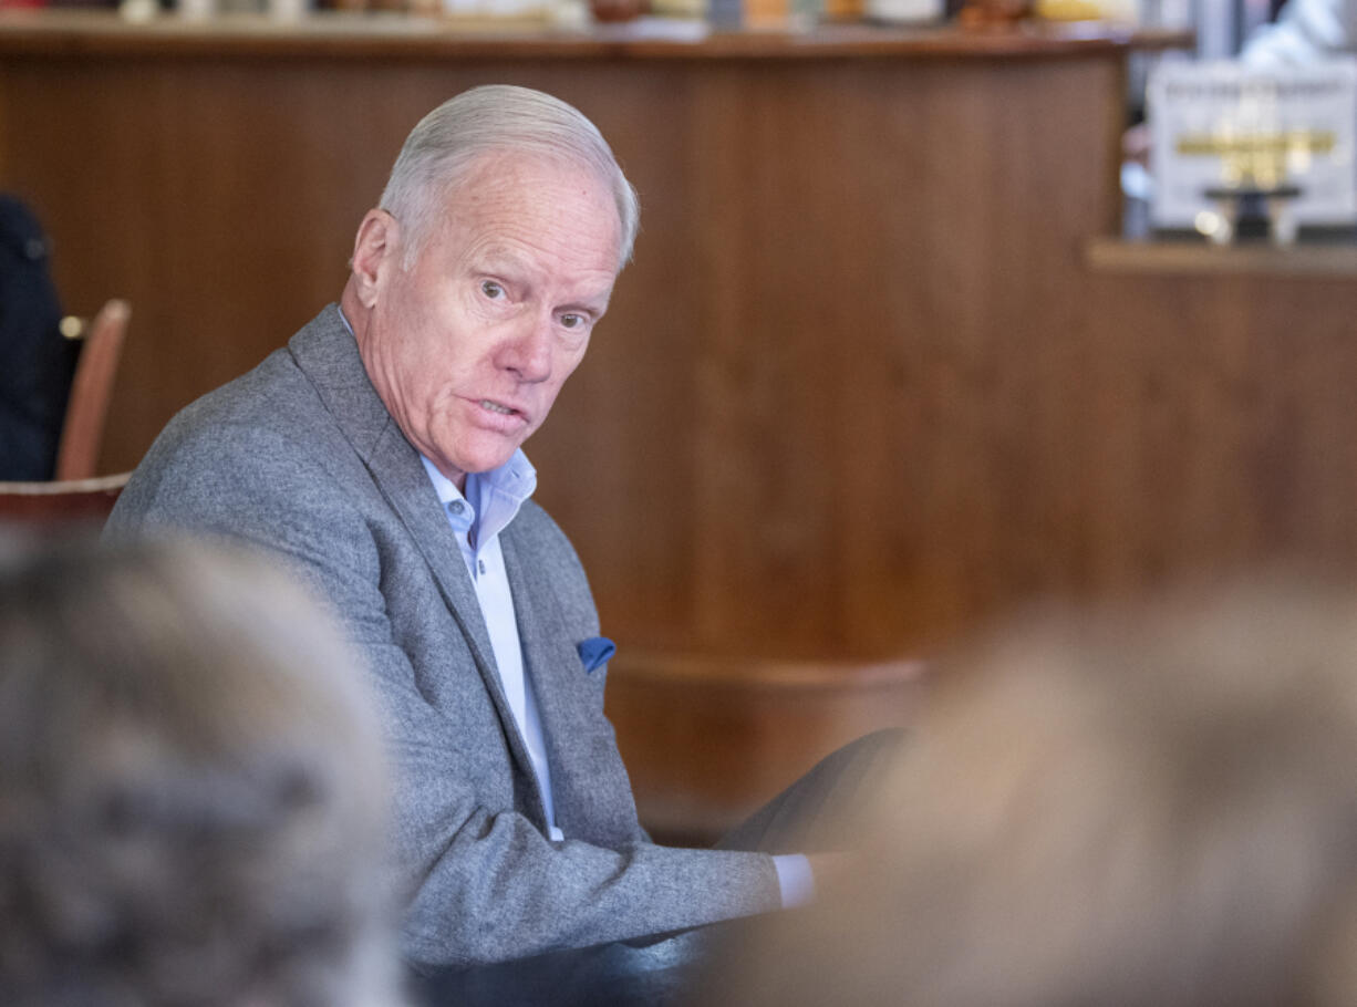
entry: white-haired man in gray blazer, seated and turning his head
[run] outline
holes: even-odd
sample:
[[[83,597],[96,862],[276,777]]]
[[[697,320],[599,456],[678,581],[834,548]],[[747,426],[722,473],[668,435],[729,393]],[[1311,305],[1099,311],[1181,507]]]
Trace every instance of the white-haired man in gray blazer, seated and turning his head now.
[[[801,856],[654,846],[604,718],[607,642],[520,445],[579,364],[636,197],[577,110],[468,91],[410,134],[330,305],[157,438],[110,535],[282,554],[384,700],[406,954],[429,965],[782,907]]]

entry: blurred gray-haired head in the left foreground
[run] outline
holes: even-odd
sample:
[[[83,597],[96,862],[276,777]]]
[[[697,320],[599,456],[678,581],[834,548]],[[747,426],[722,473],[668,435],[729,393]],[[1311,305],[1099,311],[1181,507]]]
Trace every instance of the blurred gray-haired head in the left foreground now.
[[[256,559],[0,559],[0,1003],[395,1007],[361,679]]]

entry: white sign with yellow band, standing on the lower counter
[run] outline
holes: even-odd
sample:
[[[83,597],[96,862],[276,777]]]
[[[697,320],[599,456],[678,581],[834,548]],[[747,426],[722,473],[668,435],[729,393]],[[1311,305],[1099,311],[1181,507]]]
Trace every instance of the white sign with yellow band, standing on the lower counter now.
[[[1296,224],[1357,223],[1357,60],[1255,69],[1166,62],[1147,86],[1151,223],[1191,228],[1210,189],[1274,190]]]

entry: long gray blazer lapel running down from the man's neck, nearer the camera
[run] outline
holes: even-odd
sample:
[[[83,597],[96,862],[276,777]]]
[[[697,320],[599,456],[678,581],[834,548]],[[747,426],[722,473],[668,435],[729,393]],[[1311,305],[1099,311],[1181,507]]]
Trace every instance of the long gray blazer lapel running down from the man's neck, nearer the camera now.
[[[528,779],[536,779],[499,681],[490,634],[480,615],[480,601],[461,558],[461,548],[442,513],[419,453],[406,440],[372,387],[358,356],[358,346],[339,318],[338,308],[326,308],[292,338],[289,350],[429,565],[442,601],[461,630],[476,670],[494,700],[518,771]],[[532,790],[536,793],[536,787]]]

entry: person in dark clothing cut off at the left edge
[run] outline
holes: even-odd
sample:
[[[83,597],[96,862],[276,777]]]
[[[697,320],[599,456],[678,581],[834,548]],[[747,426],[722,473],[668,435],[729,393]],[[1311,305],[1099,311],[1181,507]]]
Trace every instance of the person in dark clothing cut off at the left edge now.
[[[57,463],[80,343],[61,335],[37,217],[0,194],[0,479],[45,480]]]

